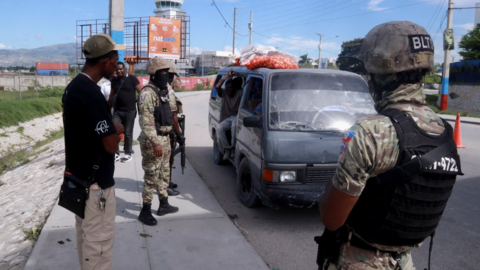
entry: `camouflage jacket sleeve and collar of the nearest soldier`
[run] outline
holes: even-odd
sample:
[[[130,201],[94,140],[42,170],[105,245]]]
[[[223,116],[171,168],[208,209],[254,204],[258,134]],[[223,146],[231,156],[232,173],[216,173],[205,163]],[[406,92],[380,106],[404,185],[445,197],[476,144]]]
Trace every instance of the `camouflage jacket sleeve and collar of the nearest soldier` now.
[[[445,130],[442,120],[425,105],[420,84],[401,85],[394,91],[384,92],[375,108],[404,111],[428,133],[441,134]],[[342,139],[333,185],[350,196],[360,196],[368,179],[395,167],[398,155],[397,133],[390,118],[377,114],[359,119]],[[377,248],[403,251],[412,247]]]

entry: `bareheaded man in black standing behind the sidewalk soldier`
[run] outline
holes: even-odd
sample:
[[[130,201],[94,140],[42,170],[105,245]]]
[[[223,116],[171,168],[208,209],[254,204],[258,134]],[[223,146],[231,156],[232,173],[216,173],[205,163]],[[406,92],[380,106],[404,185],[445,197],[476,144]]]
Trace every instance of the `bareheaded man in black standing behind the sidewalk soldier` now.
[[[137,77],[126,72],[125,64],[117,63],[117,77],[112,80],[112,91],[110,97],[113,103],[113,122],[121,123],[125,126],[125,141],[123,150],[125,155],[121,162],[132,160],[132,142],[133,142],[133,125],[137,116],[137,96],[142,86]],[[115,154],[115,161],[120,160],[120,151]]]

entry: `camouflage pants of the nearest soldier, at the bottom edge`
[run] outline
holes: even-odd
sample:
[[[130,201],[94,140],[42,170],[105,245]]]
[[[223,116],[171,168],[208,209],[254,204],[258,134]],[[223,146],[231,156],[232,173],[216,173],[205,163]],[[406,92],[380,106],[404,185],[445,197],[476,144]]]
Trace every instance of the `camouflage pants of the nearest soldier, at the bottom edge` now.
[[[338,264],[330,264],[328,270],[415,270],[410,252],[402,256],[400,267],[390,253],[343,245]]]

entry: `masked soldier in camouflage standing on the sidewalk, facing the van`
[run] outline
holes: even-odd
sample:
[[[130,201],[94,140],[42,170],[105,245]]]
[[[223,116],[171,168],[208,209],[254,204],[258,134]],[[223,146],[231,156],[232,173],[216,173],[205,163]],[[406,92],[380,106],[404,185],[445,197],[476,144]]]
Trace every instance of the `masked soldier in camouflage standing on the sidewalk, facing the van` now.
[[[142,167],[145,171],[143,184],[143,208],[138,219],[145,225],[157,224],[151,214],[153,190],[160,199],[157,215],[178,211],[168,203],[167,187],[169,182],[170,139],[173,115],[168,100],[168,61],[155,57],[147,64],[150,82],[143,87],[138,96],[139,124],[141,128],[138,141],[142,152]]]

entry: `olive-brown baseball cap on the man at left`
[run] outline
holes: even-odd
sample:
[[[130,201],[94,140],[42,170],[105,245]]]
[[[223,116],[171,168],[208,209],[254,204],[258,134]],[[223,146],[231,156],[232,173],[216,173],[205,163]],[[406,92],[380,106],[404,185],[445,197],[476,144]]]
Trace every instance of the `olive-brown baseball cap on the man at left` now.
[[[85,44],[83,44],[82,52],[86,58],[93,59],[105,55],[111,51],[125,50],[123,44],[115,44],[113,39],[106,34],[98,34],[91,36]]]

